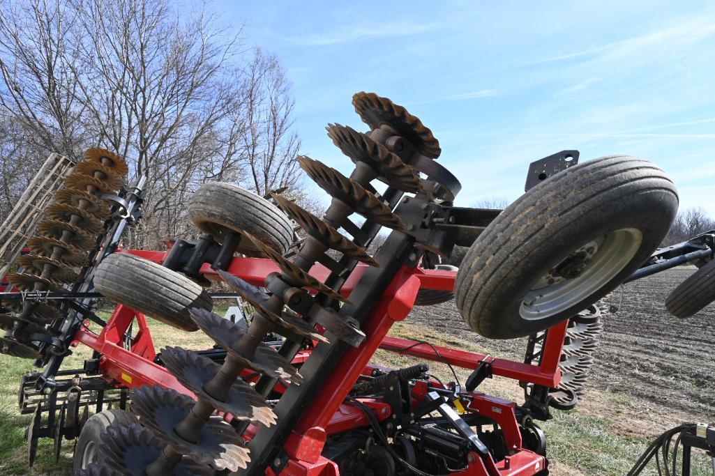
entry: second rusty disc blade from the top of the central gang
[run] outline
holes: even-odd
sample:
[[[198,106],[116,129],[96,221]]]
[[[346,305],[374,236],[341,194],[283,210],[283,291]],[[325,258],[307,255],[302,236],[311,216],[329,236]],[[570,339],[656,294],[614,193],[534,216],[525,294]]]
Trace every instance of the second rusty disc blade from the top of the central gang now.
[[[419,173],[383,144],[370,139],[368,134],[340,124],[330,124],[326,129],[328,137],[343,154],[355,164],[368,164],[378,173],[381,182],[403,192],[418,193],[422,190]]]

